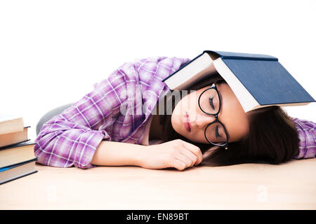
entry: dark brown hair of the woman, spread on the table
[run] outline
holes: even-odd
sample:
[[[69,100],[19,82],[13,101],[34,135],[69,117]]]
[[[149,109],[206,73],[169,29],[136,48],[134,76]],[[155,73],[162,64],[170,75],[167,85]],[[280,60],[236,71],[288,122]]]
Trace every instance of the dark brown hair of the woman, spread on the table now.
[[[224,81],[220,76],[214,76],[212,80],[205,79],[192,85],[190,90],[199,90],[218,80]],[[164,103],[167,104],[170,100],[173,103],[173,111],[176,106],[173,97],[165,98]],[[223,166],[249,162],[279,164],[298,154],[298,133],[292,118],[284,109],[279,106],[267,106],[249,112],[248,118],[249,134],[241,141],[229,143],[228,150],[210,144],[199,144],[181,136],[173,130],[171,115],[160,115],[159,122],[163,125],[163,142],[182,139],[198,146],[202,154],[208,151],[200,165]]]

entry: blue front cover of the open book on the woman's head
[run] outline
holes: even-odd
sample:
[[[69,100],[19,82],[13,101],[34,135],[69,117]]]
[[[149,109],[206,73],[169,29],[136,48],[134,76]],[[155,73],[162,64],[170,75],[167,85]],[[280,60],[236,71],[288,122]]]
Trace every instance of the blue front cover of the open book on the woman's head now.
[[[277,57],[233,52],[216,53],[262,106],[315,102],[279,63]]]

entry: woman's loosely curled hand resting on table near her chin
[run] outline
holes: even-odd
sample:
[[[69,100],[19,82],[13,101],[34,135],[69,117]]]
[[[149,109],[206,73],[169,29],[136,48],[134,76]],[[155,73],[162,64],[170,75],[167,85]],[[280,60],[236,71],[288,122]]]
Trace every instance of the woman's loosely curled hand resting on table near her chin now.
[[[183,170],[199,165],[202,153],[199,147],[186,141],[176,139],[163,144],[147,146],[140,155],[140,167],[163,169],[174,167]]]

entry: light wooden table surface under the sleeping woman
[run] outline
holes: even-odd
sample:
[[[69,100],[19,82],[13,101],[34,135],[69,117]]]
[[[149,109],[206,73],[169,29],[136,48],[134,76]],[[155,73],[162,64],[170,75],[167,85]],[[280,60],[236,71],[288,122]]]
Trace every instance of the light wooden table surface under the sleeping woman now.
[[[0,186],[0,209],[316,209],[316,158],[282,165],[56,168]]]

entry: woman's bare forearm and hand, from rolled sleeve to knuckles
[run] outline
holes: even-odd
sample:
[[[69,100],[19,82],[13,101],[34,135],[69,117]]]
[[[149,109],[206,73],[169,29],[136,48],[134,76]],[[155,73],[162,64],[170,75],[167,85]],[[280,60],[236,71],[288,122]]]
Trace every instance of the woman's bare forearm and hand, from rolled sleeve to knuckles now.
[[[101,141],[92,164],[100,166],[134,165],[147,169],[174,167],[183,170],[202,162],[200,149],[176,139],[163,144],[141,146],[114,141]]]

